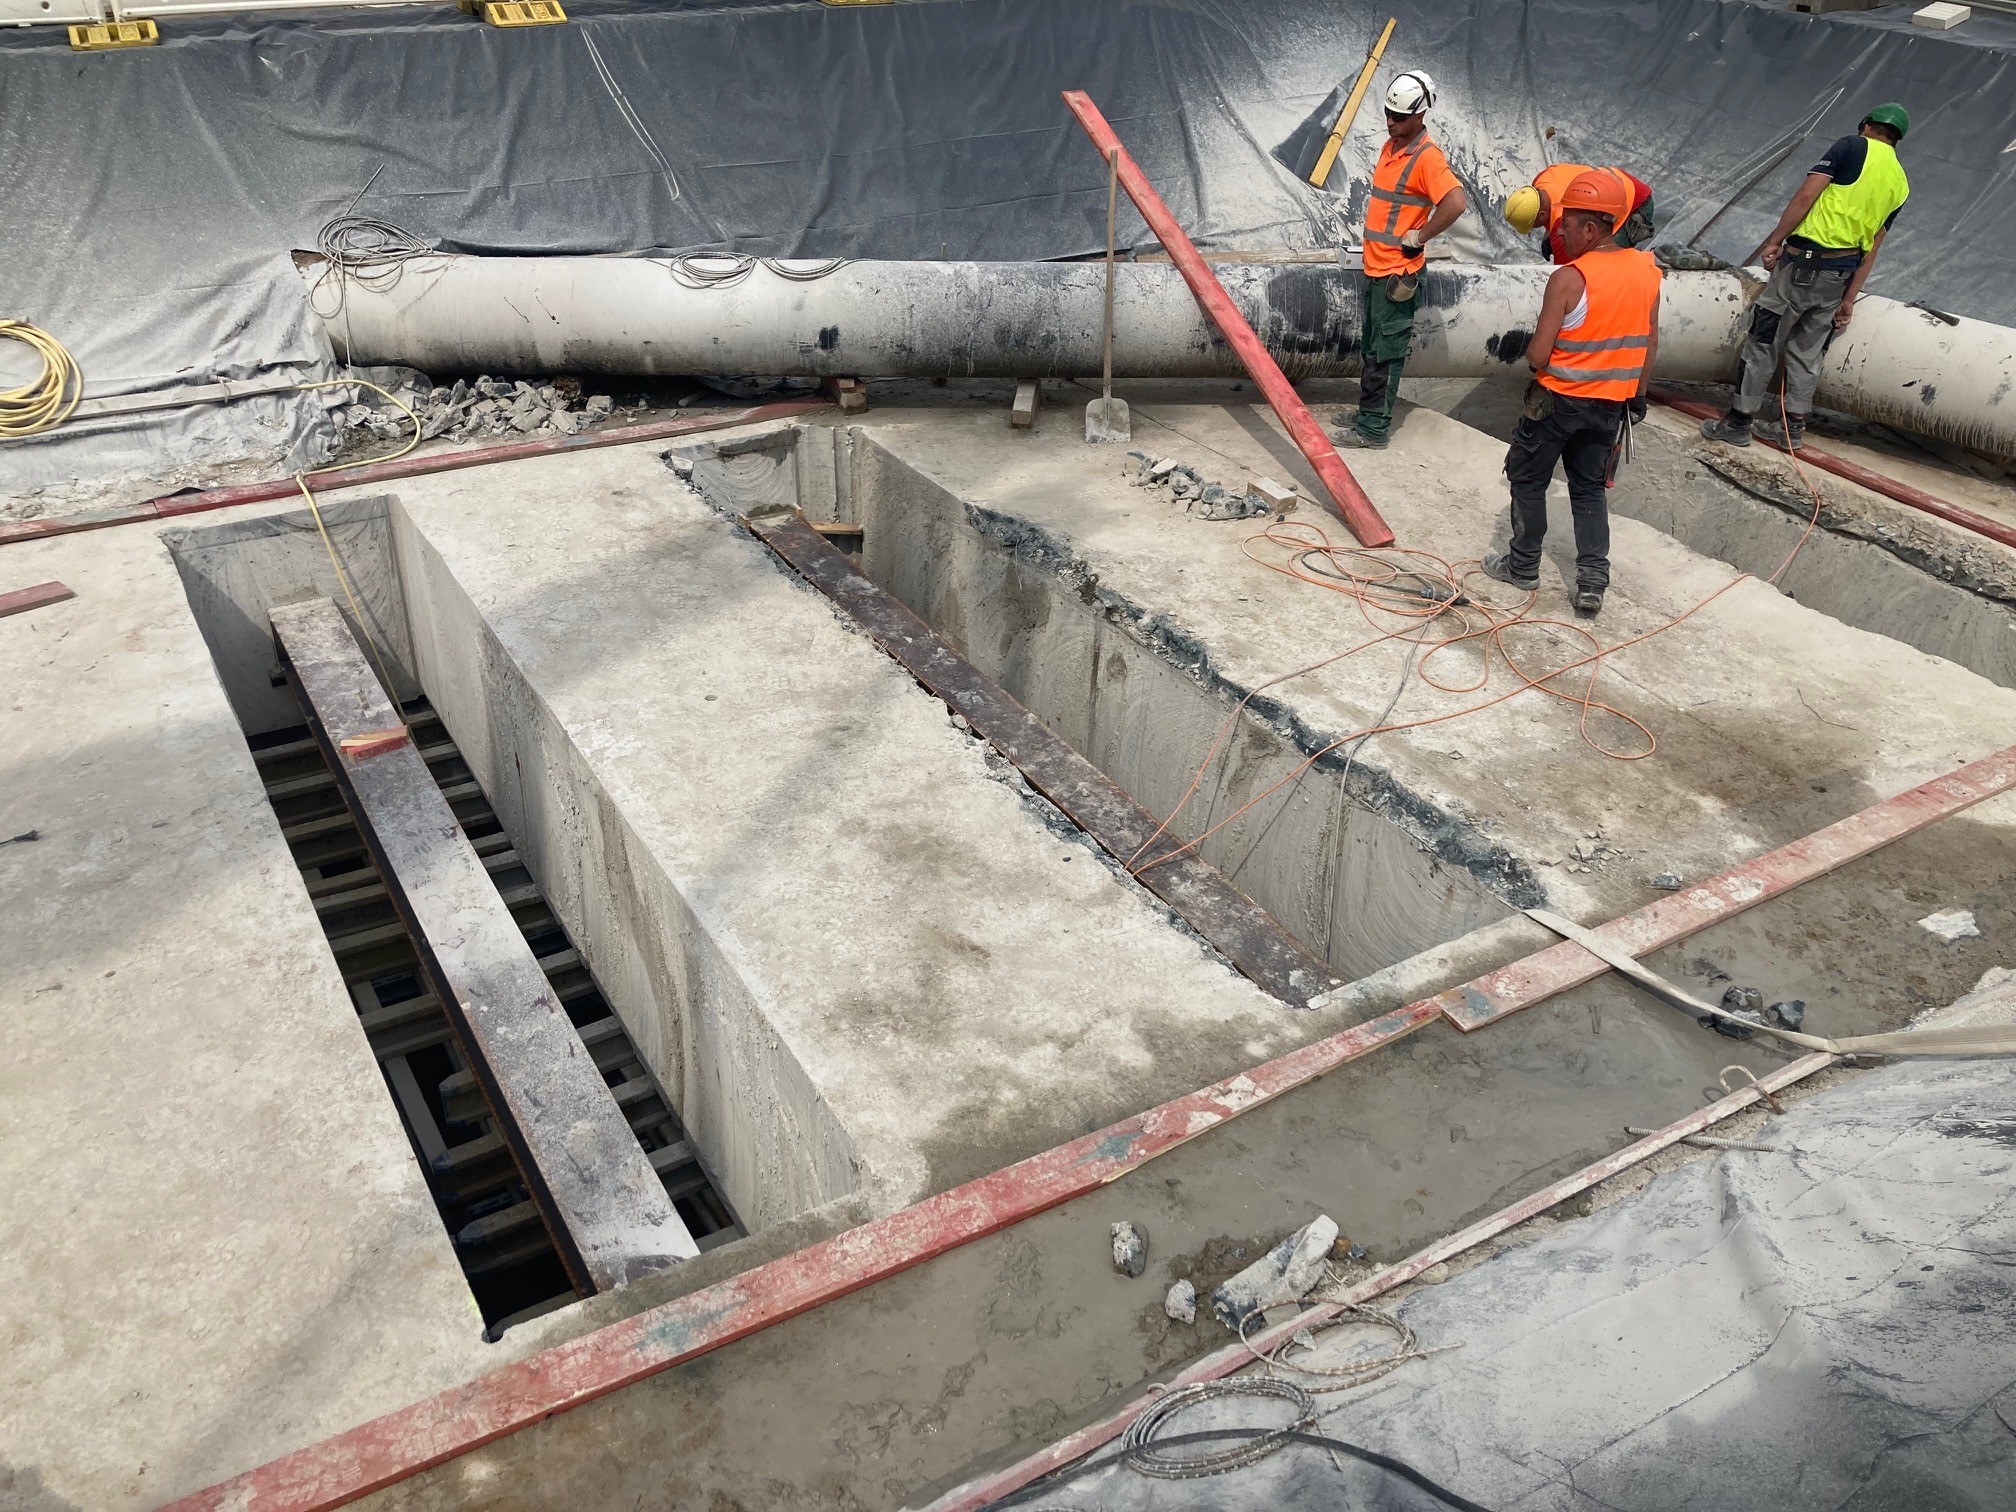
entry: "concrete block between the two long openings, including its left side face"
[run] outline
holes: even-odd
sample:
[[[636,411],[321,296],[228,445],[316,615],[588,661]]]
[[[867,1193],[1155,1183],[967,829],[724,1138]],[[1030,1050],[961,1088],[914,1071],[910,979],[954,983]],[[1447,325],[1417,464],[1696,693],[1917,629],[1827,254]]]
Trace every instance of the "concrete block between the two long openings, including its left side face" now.
[[[754,1226],[1310,1032],[657,448],[401,486],[421,681]]]

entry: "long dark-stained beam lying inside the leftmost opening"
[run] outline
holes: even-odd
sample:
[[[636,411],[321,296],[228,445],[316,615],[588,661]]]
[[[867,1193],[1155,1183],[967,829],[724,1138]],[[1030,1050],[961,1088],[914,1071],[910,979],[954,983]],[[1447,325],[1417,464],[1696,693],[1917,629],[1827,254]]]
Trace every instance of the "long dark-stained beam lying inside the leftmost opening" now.
[[[272,611],[288,679],[335,768],[379,877],[419,946],[476,1083],[510,1141],[577,1290],[599,1292],[700,1254],[629,1119],[411,742],[347,758],[399,726],[329,599]],[[566,952],[573,956],[573,952]]]

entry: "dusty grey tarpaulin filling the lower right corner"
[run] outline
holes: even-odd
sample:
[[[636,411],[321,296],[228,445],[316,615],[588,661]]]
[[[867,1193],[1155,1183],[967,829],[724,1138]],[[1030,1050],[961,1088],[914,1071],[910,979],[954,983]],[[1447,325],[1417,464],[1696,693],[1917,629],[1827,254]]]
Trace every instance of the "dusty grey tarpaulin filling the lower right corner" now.
[[[1320,1431],[1496,1512],[2016,1506],[2008,1062],[1895,1062],[1754,1139],[1778,1153],[1695,1161],[1417,1290],[1397,1316],[1462,1349],[1316,1397],[1341,1405]],[[1165,1431],[1288,1415],[1218,1401]],[[1300,1445],[1206,1480],[1095,1472],[1034,1504],[1439,1506]]]

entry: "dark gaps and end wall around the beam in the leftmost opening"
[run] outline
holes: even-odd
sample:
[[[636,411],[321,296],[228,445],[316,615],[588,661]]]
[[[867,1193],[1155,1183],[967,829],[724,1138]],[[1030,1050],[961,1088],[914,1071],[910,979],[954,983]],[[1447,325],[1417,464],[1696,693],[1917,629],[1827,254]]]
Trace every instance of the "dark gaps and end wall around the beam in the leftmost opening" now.
[[[351,631],[361,645],[369,635],[373,661],[401,696],[397,718],[407,724],[415,756],[496,887],[500,923],[508,917],[504,927],[522,935],[526,970],[542,976],[593,1075],[607,1085],[611,1121],[619,1131],[627,1125],[619,1137],[635,1137],[645,1157],[643,1179],[663,1185],[702,1250],[740,1238],[744,1228],[411,671],[411,625],[391,546],[389,500],[325,506],[323,516],[327,544],[308,514],[175,532],[167,544],[357,1006],[365,1030],[359,1052],[369,1052],[385,1077],[486,1337],[496,1339],[514,1322],[573,1302],[577,1286],[540,1206],[544,1185],[528,1183],[524,1155],[514,1149],[516,1131],[498,1119],[496,1089],[480,1077],[482,1066],[431,984],[435,948],[415,937],[401,917],[397,887],[387,885],[383,837],[375,843],[359,825],[345,782],[312,726],[302,722],[312,710],[296,702],[296,689],[280,675],[274,631],[264,627],[276,609],[294,613],[286,607],[319,601],[331,585],[345,603],[355,599],[361,615]],[[347,581],[337,579],[331,546]],[[534,1097],[548,1091],[536,1068],[530,1083]]]

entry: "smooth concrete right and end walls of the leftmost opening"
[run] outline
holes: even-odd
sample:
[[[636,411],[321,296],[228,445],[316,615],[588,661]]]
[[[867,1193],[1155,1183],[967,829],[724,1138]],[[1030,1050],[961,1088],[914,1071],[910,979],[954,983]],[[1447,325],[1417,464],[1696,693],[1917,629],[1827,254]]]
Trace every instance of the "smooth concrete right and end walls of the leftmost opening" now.
[[[395,500],[323,514],[399,696],[425,694],[439,712],[736,1216],[754,1232],[849,1195],[851,1141],[439,554]],[[300,724],[268,615],[345,603],[312,518],[165,540],[240,722],[250,734]]]

